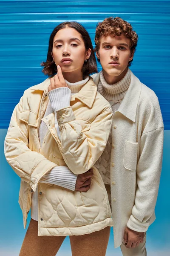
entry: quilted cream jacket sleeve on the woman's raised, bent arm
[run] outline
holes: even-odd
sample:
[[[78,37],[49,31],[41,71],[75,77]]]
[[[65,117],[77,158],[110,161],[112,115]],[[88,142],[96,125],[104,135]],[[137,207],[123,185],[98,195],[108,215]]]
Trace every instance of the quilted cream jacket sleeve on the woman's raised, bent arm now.
[[[90,129],[82,132],[71,107],[57,111],[61,136],[57,143],[65,163],[74,174],[87,172],[101,156],[110,134],[112,116],[107,105],[91,122]]]

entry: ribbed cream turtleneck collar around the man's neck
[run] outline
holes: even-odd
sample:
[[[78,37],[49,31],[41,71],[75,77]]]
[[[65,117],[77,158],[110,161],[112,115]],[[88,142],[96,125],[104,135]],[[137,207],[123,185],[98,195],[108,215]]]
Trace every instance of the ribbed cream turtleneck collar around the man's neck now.
[[[115,84],[108,84],[105,81],[103,72],[100,73],[100,82],[98,91],[107,100],[119,101],[124,98],[131,81],[130,69],[128,68],[126,75],[123,79]]]

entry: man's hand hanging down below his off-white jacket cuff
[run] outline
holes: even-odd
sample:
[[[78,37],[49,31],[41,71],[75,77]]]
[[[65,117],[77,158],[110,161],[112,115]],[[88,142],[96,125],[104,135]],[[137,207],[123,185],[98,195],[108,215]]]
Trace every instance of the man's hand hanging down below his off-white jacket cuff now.
[[[137,232],[126,227],[124,233],[124,244],[127,248],[135,248],[140,243],[143,243],[144,232]]]

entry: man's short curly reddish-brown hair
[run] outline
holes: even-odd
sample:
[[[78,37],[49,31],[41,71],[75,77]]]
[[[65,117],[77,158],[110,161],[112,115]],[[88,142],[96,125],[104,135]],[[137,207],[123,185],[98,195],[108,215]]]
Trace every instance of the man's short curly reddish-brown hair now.
[[[95,34],[95,52],[99,52],[100,49],[100,38],[102,36],[111,35],[115,37],[116,35],[125,35],[127,38],[130,39],[130,52],[136,51],[138,35],[133,30],[133,27],[125,20],[122,20],[120,17],[108,17],[105,18],[102,22],[99,22],[96,26],[96,34]],[[99,62],[100,60],[97,59]],[[131,61],[128,63],[128,67],[130,67]]]

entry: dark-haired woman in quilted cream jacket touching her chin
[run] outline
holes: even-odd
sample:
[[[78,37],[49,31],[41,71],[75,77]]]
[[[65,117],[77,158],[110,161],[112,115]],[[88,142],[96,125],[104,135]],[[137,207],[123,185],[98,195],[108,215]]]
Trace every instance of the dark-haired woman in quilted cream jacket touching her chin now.
[[[5,139],[6,160],[21,177],[24,227],[31,208],[20,256],[54,256],[65,236],[73,256],[104,256],[113,222],[93,166],[107,143],[112,111],[88,76],[96,72],[96,61],[85,28],[59,24],[42,65],[50,78],[24,92]],[[90,173],[84,190],[75,190],[75,179],[84,173]]]

